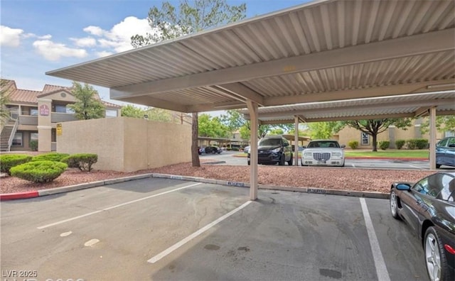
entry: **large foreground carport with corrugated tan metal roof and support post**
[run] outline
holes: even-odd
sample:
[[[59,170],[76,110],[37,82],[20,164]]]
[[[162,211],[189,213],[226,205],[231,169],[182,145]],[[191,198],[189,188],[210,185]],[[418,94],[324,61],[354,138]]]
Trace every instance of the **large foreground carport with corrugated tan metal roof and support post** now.
[[[47,74],[173,111],[246,106],[257,163],[259,107],[454,90],[454,15],[454,1],[314,1]],[[414,111],[429,111],[431,148],[436,106]]]

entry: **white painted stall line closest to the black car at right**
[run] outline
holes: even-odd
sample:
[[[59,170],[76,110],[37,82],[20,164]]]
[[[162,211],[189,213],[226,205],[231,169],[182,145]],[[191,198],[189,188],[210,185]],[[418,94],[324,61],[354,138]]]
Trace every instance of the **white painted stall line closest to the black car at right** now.
[[[363,217],[365,218],[365,226],[368,232],[368,239],[370,239],[370,247],[371,252],[373,253],[373,260],[375,260],[378,280],[390,281],[389,272],[387,272],[387,267],[385,266],[384,258],[382,257],[378,237],[376,236],[375,228],[373,228],[373,222],[371,221],[365,198],[360,198],[360,205],[362,206]]]

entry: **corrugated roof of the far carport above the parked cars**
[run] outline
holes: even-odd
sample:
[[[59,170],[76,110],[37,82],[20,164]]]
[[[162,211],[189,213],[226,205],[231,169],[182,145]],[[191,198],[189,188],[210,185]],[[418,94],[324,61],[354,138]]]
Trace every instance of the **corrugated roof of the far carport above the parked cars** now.
[[[455,92],[406,94],[392,97],[312,102],[290,106],[269,106],[258,109],[262,124],[294,123],[295,116],[303,122],[355,119],[382,119],[427,116],[435,106],[437,115],[455,114]],[[240,110],[250,119],[248,110]]]

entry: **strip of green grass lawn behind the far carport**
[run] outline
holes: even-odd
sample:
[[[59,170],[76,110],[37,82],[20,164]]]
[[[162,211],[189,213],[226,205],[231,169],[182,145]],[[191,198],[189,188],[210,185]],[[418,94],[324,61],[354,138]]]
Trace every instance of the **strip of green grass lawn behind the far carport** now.
[[[247,157],[247,153],[238,153],[235,157]],[[359,157],[359,158],[424,158],[428,159],[428,150],[345,150],[346,157]],[[299,153],[301,158],[301,153]]]

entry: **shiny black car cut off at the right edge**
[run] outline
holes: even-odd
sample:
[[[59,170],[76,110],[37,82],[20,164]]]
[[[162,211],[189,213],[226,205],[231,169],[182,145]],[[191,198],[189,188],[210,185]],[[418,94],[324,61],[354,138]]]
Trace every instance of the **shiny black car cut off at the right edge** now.
[[[455,172],[395,182],[390,211],[422,242],[429,279],[455,280]]]

